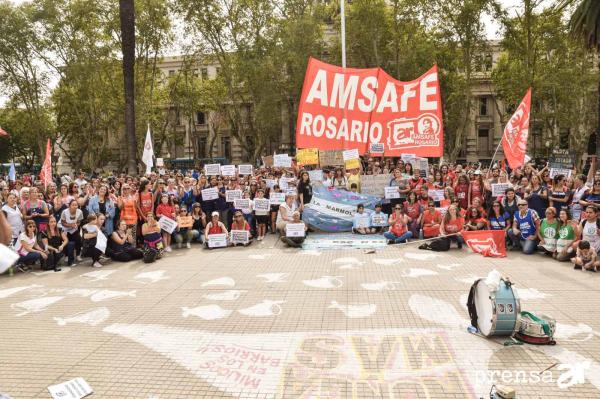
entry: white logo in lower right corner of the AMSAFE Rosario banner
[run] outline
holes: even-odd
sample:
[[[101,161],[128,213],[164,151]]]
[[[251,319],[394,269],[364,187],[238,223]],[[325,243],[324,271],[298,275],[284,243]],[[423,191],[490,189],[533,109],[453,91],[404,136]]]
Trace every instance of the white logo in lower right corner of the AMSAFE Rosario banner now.
[[[388,122],[388,147],[397,150],[407,147],[440,145],[440,122],[434,114],[419,118],[400,118]]]

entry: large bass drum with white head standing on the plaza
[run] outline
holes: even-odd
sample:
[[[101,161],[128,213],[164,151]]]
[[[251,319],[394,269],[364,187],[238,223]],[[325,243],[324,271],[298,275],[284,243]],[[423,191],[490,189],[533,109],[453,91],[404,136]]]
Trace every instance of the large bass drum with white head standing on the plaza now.
[[[512,284],[500,280],[498,289],[491,292],[483,279],[471,286],[467,303],[471,325],[486,337],[512,336],[518,331],[521,303]]]

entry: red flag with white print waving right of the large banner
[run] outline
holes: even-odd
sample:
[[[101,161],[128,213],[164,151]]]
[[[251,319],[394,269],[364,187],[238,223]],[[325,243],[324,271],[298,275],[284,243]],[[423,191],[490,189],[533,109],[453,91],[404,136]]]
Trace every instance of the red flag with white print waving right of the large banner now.
[[[527,151],[527,136],[529,135],[529,113],[531,110],[531,88],[523,97],[519,108],[510,118],[504,134],[502,135],[502,150],[512,168],[518,168],[525,164],[525,152]]]

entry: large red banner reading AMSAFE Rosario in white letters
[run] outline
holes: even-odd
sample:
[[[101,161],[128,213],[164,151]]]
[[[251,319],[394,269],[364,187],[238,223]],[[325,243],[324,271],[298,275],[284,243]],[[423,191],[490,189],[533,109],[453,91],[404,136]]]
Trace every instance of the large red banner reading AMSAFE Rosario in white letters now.
[[[296,124],[296,146],[358,149],[382,143],[386,156],[440,157],[444,147],[437,66],[412,82],[381,68],[308,62]]]

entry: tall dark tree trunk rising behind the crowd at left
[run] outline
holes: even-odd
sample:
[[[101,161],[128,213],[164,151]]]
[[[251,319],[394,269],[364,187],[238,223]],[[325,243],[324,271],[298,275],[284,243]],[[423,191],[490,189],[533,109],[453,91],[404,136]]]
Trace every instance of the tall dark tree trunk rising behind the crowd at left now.
[[[135,8],[134,0],[119,0],[121,51],[125,93],[125,141],[130,175],[137,175],[137,140],[135,136]]]

